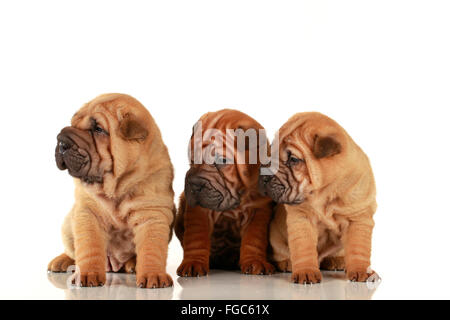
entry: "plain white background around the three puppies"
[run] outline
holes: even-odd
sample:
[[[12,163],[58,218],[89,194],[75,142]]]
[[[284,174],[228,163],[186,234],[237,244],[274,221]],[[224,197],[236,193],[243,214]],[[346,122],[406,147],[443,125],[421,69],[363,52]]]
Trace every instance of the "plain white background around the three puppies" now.
[[[56,135],[122,92],[157,121],[177,197],[204,112],[240,109],[270,136],[296,112],[334,118],[377,180],[374,298],[450,298],[449,16],[431,0],[2,1],[0,297],[53,297],[73,202]],[[174,239],[169,266],[181,256]]]

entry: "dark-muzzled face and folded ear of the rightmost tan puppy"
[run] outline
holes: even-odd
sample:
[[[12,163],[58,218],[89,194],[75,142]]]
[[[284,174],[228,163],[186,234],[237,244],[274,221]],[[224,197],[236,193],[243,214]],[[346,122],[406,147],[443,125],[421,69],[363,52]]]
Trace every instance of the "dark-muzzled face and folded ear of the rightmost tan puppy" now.
[[[340,152],[340,144],[330,137],[314,138],[309,146],[311,158],[306,159],[298,144],[287,137],[280,143],[279,169],[273,175],[260,175],[258,185],[263,195],[278,203],[300,204],[313,193],[310,170],[312,161],[328,159]]]

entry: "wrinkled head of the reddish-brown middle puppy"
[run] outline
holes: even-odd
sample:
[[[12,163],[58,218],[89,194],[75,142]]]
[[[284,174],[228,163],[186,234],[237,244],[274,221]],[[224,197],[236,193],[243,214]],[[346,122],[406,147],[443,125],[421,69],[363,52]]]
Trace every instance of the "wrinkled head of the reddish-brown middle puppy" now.
[[[196,152],[191,151],[196,144],[195,128],[200,122],[205,131],[200,130],[197,156],[201,155],[201,161],[198,161]],[[246,191],[257,189],[259,158],[252,161],[249,154],[257,154],[263,128],[236,110],[206,114],[198,123],[190,141],[190,169],[184,189],[187,203],[190,207],[198,205],[214,211],[235,209]],[[215,130],[213,137],[205,133],[210,129]],[[249,138],[252,133],[255,139]]]

